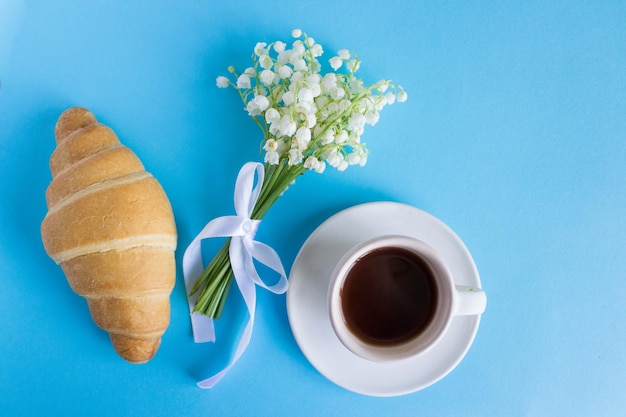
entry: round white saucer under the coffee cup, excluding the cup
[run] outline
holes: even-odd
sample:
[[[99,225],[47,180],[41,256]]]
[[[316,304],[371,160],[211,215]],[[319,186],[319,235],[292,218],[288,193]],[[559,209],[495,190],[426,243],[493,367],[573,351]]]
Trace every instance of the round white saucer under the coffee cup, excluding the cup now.
[[[354,206],[333,215],[309,236],[291,268],[287,292],[287,313],[296,342],[330,381],[380,397],[415,392],[446,376],[467,353],[480,322],[479,315],[457,316],[437,345],[398,362],[370,362],[346,349],[328,316],[330,275],[352,246],[386,234],[404,234],[426,242],[445,259],[457,285],[481,287],[474,261],[461,239],[440,220],[412,206],[393,202]]]

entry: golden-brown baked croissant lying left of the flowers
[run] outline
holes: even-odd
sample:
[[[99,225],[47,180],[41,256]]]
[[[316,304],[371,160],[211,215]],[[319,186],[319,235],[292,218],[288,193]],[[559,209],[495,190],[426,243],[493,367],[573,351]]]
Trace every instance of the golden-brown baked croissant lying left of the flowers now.
[[[170,321],[177,235],[159,182],[87,109],[55,127],[41,236],[95,324],[131,363],[150,360]]]

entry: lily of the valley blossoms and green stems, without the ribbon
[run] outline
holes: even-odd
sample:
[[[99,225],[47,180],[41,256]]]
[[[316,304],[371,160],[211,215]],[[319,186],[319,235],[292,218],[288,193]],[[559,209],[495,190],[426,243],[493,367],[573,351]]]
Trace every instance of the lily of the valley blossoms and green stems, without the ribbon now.
[[[298,29],[292,36],[291,48],[281,41],[257,43],[251,67],[239,74],[231,66],[230,78],[217,77],[218,87],[237,90],[263,132],[265,176],[252,211],[256,220],[305,171],[365,165],[365,126],[375,125],[386,105],[407,99],[402,87],[388,80],[366,86],[356,77],[359,57],[346,49],[329,60],[332,71],[322,73],[322,45]],[[192,294],[198,293],[194,312],[219,318],[233,278],[228,246],[192,288]]]

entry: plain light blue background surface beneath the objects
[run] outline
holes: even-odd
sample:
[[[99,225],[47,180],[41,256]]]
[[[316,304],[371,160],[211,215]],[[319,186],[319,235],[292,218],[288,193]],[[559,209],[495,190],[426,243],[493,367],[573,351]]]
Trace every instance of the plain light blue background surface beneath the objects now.
[[[248,350],[201,390],[228,349],[193,343],[180,272],[157,356],[127,364],[43,250],[54,124],[80,105],[161,181],[180,270],[203,225],[233,213],[240,166],[260,158],[260,131],[215,78],[293,28],[326,58],[356,51],[361,77],[391,78],[409,100],[366,130],[365,167],[306,174],[257,238],[289,269],[322,221],[358,203],[399,201],[450,225],[488,307],[465,359],[423,391],[335,386],[301,354],[285,296],[260,290]],[[624,2],[2,0],[0,81],[4,415],[623,415]],[[224,333],[243,322],[238,307]]]

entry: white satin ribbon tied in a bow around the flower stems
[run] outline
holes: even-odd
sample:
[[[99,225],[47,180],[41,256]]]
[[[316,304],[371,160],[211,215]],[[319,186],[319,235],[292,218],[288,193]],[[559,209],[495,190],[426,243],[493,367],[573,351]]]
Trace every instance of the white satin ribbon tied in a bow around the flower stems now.
[[[257,184],[254,185],[254,174],[257,174]],[[193,282],[204,272],[202,262],[201,241],[211,237],[230,237],[229,256],[233,268],[235,281],[243,295],[250,315],[246,328],[241,336],[237,350],[230,363],[212,377],[198,382],[201,388],[212,388],[217,384],[232,366],[241,357],[248,347],[252,336],[254,312],[256,309],[256,287],[259,285],[275,294],[287,291],[287,276],[278,254],[269,246],[254,240],[260,220],[252,220],[252,210],[259,198],[263,185],[263,164],[257,162],[246,163],[237,176],[235,184],[235,212],[236,216],[218,217],[210,221],[204,229],[189,244],[183,255],[183,275],[187,289],[189,311],[191,313],[191,327],[196,343],[214,342],[215,330],[213,320],[200,313],[194,313],[197,294],[189,297]],[[254,267],[253,259],[280,274],[279,281],[274,285],[267,285]]]

